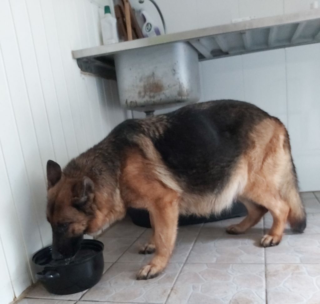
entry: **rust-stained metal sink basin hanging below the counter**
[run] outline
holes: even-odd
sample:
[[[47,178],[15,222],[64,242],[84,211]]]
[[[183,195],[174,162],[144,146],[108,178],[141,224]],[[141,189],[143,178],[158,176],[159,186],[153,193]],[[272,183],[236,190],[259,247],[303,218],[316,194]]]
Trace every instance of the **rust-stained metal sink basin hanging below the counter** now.
[[[115,54],[122,107],[149,112],[200,99],[198,53],[187,42]]]

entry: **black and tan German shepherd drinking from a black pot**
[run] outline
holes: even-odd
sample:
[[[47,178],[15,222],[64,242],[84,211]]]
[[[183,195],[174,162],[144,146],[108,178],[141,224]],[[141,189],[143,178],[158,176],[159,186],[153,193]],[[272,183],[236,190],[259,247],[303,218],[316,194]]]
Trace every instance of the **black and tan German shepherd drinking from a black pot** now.
[[[148,210],[153,235],[140,253],[155,255],[137,279],[153,278],[167,265],[179,214],[219,213],[238,199],[248,215],[227,232],[240,234],[270,211],[264,247],[279,244],[287,220],[299,233],[306,227],[288,132],[241,101],[126,120],[64,170],[49,160],[47,179],[55,259],[73,256],[84,234],[121,220],[127,207]]]

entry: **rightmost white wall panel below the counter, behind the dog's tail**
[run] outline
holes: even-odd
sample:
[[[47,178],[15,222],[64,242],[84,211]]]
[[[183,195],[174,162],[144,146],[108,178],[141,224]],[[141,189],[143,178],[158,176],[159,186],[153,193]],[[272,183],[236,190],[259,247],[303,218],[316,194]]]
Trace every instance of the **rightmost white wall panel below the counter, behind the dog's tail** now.
[[[301,189],[320,189],[320,44],[286,50],[288,129]]]

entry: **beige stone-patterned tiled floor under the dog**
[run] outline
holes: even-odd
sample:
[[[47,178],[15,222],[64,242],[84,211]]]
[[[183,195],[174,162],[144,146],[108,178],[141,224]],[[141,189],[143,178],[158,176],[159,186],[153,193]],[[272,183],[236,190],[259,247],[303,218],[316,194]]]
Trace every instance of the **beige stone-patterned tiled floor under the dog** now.
[[[270,228],[267,214],[247,234],[230,236],[230,219],[179,228],[177,244],[163,274],[137,281],[135,276],[150,255],[138,254],[150,229],[129,220],[109,228],[105,244],[105,273],[88,291],[56,296],[36,285],[20,304],[319,304],[320,303],[320,192],[302,193],[308,224],[302,235],[289,227],[282,242],[261,248]]]

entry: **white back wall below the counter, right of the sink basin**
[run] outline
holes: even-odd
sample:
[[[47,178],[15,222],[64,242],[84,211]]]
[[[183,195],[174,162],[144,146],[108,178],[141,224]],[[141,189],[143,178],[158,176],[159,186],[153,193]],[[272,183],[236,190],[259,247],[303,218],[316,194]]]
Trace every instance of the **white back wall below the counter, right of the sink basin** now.
[[[245,100],[278,117],[288,128],[301,191],[320,189],[320,44],[204,61],[201,68],[203,101]]]

